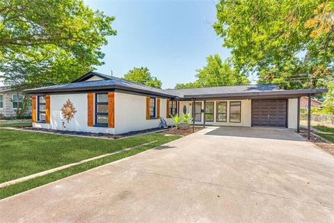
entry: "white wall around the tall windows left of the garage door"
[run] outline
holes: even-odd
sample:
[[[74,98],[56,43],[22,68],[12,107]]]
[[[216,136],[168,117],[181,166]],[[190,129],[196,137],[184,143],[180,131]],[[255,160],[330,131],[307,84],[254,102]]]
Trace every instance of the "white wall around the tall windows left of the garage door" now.
[[[228,102],[228,120],[226,122],[216,122],[216,102]],[[240,101],[241,102],[241,122],[240,123],[230,123],[230,102],[231,101]],[[196,100],[196,102],[202,102],[202,109],[204,109],[204,101],[199,101]],[[209,122],[206,121],[205,124],[206,125],[220,125],[220,126],[245,126],[245,127],[250,127],[251,126],[251,107],[252,107],[252,103],[251,100],[207,100],[207,102],[214,102],[214,121],[213,122]],[[192,112],[192,102],[183,102],[183,103],[188,103],[189,105],[189,112]],[[190,105],[191,104],[191,105]],[[181,105],[182,102],[180,102],[180,112],[182,113],[182,109],[183,107]],[[202,121],[198,122],[196,121],[195,124],[196,125],[202,125],[203,124],[203,120],[204,120],[204,113],[202,113]]]

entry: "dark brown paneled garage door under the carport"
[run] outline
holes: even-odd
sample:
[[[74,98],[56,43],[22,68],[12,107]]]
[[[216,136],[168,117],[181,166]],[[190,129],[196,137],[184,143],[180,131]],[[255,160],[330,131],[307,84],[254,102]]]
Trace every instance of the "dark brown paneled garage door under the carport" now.
[[[287,126],[287,100],[252,100],[252,126]]]

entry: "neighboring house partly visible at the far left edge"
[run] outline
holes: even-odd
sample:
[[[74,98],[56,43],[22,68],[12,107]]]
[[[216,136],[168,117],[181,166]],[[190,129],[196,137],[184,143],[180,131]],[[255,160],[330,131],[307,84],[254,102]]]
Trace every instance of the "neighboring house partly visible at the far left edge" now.
[[[0,86],[0,116],[15,116],[17,111],[17,100],[19,101],[19,106],[21,106],[22,99],[22,92],[19,92],[17,98],[17,92],[13,91],[8,86]],[[31,114],[31,107],[27,114]]]

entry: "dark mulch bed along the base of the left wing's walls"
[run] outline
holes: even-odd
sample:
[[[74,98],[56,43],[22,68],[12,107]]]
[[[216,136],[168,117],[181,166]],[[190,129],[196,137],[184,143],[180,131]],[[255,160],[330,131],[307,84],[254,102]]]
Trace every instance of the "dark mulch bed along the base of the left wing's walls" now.
[[[148,130],[127,132],[125,134],[108,134],[108,133],[77,132],[77,131],[65,131],[65,130],[49,130],[45,128],[33,128],[33,127],[26,127],[26,126],[15,127],[15,128],[20,128],[24,130],[32,130],[32,131],[40,131],[40,132],[54,132],[58,134],[73,134],[77,136],[86,136],[86,137],[102,137],[102,138],[108,138],[108,139],[120,139],[123,137],[134,136],[136,134],[150,133],[150,132],[156,132],[157,130],[161,130],[160,128],[151,128]]]

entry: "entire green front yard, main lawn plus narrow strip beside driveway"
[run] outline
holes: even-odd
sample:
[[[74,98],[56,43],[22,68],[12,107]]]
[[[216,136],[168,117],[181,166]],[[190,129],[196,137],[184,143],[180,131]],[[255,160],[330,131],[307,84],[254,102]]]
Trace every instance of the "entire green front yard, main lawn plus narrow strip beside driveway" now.
[[[138,146],[138,148],[79,164],[16,185],[2,187],[0,188],[0,199],[101,164],[140,153],[178,138],[180,137],[175,135],[144,134],[113,140],[1,129],[0,183],[121,149],[133,146]],[[147,143],[151,144],[141,146]]]

